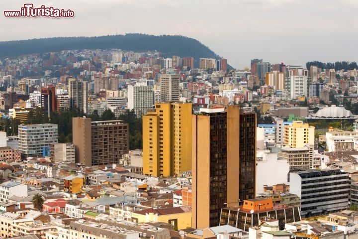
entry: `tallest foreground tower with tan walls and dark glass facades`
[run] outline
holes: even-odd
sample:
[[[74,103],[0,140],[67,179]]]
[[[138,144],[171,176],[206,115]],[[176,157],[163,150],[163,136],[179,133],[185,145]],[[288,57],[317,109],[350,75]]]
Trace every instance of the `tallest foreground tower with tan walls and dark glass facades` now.
[[[220,210],[255,198],[256,115],[238,106],[192,115],[192,227],[219,225]]]

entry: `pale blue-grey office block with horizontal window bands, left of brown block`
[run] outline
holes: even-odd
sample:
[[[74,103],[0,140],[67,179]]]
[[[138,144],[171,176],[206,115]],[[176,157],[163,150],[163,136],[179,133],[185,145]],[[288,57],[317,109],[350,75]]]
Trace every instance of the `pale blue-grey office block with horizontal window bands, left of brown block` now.
[[[42,155],[43,149],[57,143],[57,124],[20,124],[18,126],[18,150],[27,156]]]

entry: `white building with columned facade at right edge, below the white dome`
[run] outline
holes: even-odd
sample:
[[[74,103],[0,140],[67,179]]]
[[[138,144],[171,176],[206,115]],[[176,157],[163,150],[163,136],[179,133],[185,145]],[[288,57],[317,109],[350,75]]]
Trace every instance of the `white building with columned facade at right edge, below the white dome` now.
[[[358,132],[329,129],[326,145],[328,152],[358,150]]]

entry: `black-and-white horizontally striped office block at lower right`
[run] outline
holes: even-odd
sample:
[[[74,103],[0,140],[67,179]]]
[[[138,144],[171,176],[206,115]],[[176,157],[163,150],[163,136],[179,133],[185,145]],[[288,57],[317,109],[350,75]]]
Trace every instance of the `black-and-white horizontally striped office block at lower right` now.
[[[290,193],[301,198],[302,218],[317,217],[348,208],[349,173],[340,169],[290,172]]]

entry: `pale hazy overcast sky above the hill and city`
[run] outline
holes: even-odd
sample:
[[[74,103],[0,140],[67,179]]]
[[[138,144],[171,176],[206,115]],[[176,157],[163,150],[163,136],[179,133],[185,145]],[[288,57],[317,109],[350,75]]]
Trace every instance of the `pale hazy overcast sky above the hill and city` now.
[[[24,3],[73,18],[3,16]],[[253,58],[303,65],[358,61],[358,0],[1,0],[0,41],[125,33],[195,38],[235,68]]]

